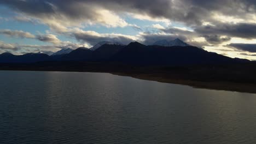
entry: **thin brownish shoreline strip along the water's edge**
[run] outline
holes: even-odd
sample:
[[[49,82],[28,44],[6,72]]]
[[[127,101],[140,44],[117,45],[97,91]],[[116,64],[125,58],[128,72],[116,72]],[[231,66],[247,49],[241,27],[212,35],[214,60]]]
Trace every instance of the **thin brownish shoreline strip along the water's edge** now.
[[[241,93],[256,94],[256,84],[254,83],[238,83],[227,81],[196,81],[186,79],[172,79],[161,74],[138,74],[138,73],[120,73],[111,71],[97,70],[36,70],[36,69],[0,69],[1,71],[55,71],[55,72],[79,72],[79,73],[108,73],[118,76],[129,76],[140,80],[157,81],[164,83],[172,83],[193,88],[212,89],[217,91],[230,91]]]

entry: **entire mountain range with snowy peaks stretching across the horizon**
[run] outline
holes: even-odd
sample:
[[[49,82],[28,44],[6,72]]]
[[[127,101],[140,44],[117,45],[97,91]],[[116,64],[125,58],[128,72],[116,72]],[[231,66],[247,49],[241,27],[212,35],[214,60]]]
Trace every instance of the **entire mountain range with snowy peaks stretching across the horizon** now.
[[[129,45],[103,41],[91,49],[62,49],[52,55],[27,53],[16,56],[2,53],[0,63],[58,62],[114,62],[131,65],[199,65],[250,62],[247,59],[230,58],[190,46],[180,39],[156,41],[153,45],[132,42]]]

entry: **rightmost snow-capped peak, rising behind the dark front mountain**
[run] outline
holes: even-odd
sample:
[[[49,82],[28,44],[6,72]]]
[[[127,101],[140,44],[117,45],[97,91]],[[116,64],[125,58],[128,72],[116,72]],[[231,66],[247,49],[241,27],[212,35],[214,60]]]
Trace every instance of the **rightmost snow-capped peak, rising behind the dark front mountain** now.
[[[174,40],[159,40],[156,41],[153,45],[160,45],[160,46],[189,46],[189,44],[184,43],[184,41],[180,39]]]

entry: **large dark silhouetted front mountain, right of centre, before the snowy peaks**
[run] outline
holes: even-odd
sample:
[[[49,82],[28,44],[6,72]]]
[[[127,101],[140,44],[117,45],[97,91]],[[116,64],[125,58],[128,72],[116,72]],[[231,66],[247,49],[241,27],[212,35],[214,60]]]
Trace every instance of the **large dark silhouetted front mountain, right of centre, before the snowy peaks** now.
[[[146,46],[135,42],[114,55],[112,61],[142,65],[194,65],[239,63],[241,59],[232,59],[194,46]]]

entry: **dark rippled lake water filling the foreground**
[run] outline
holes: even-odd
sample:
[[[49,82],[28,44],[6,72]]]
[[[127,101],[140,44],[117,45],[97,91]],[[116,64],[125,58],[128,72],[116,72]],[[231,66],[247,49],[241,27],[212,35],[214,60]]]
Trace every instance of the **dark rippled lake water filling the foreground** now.
[[[0,71],[0,143],[256,143],[256,94]]]

